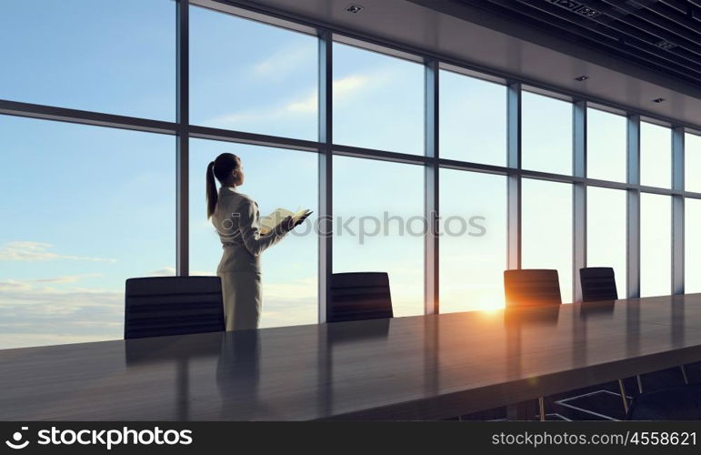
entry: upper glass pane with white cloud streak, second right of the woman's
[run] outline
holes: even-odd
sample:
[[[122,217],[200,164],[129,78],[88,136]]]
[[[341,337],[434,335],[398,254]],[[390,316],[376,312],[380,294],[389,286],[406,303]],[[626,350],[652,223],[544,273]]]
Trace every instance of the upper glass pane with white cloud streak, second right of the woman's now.
[[[334,43],[334,142],[424,154],[424,66]]]

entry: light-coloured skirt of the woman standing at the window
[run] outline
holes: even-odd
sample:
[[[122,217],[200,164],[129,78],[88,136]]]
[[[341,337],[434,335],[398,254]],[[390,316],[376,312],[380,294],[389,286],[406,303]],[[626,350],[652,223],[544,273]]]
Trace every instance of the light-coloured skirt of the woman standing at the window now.
[[[261,310],[259,272],[219,272],[226,330],[258,329]]]

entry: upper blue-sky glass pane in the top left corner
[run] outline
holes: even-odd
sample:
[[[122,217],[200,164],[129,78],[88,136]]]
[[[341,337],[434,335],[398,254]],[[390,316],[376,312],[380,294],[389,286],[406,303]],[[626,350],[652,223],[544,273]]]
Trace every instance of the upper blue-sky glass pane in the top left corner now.
[[[171,0],[6,0],[0,56],[0,98],[175,120]]]

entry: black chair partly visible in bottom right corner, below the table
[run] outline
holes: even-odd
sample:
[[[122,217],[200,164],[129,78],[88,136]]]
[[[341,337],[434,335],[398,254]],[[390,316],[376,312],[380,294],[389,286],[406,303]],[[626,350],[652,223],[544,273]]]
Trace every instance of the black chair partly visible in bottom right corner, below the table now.
[[[662,389],[638,395],[627,420],[701,420],[701,385]]]

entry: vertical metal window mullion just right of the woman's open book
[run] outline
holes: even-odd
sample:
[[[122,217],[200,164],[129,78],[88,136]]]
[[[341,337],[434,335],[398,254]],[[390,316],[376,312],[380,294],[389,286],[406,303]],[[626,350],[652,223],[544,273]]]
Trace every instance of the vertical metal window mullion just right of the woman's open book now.
[[[331,274],[333,273],[333,35],[319,33],[319,266],[318,321],[326,322],[330,305]]]

